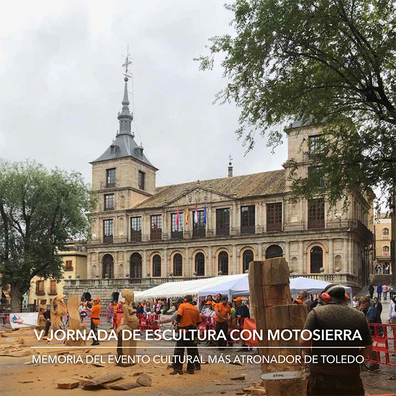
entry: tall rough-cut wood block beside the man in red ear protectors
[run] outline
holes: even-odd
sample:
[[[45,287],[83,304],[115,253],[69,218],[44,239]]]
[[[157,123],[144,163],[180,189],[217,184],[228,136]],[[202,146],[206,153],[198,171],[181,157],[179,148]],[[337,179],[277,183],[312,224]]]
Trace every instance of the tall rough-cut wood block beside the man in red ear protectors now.
[[[291,304],[289,266],[285,258],[252,261],[249,264],[249,290],[257,331],[262,330],[263,339],[258,340],[260,356],[299,355],[298,341],[268,340],[268,330],[302,329],[306,319],[306,306]],[[277,347],[277,348],[274,348]],[[269,359],[270,361],[270,359]],[[262,373],[294,371],[302,374],[303,364],[262,363]],[[289,373],[292,374],[292,373]],[[284,375],[283,375],[284,376]],[[266,380],[268,396],[305,396],[304,378]]]

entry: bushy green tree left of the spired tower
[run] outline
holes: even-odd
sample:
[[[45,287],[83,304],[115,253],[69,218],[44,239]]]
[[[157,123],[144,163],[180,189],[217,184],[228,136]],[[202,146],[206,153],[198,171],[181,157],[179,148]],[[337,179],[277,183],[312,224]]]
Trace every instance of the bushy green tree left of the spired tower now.
[[[69,238],[88,238],[95,201],[80,173],[0,160],[0,274],[13,312],[34,276],[61,279],[56,252]]]

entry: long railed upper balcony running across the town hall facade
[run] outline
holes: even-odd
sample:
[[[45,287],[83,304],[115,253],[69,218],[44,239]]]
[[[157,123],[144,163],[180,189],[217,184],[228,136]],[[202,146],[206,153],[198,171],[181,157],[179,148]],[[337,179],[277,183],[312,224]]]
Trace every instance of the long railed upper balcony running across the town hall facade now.
[[[102,240],[95,239],[90,241],[90,245],[99,244],[123,244],[129,242],[151,242],[151,241],[183,241],[205,238],[234,238],[245,237],[247,235],[273,235],[277,233],[292,233],[301,231],[318,231],[318,230],[345,230],[355,231],[360,233],[363,239],[368,243],[372,243],[373,234],[362,224],[355,219],[332,219],[332,220],[318,220],[318,221],[297,221],[293,223],[271,223],[248,227],[227,227],[221,229],[211,229],[200,227],[195,230],[177,231],[165,233],[162,231],[151,232],[150,234],[142,234],[141,231],[133,233],[127,237],[103,237]]]

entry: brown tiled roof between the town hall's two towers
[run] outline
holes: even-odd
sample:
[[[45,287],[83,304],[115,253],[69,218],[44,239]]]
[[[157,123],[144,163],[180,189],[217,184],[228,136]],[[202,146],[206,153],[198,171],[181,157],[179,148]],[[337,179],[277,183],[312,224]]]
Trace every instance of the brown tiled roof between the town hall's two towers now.
[[[157,187],[153,196],[136,205],[134,209],[162,207],[197,187],[234,198],[282,194],[285,191],[285,170]]]

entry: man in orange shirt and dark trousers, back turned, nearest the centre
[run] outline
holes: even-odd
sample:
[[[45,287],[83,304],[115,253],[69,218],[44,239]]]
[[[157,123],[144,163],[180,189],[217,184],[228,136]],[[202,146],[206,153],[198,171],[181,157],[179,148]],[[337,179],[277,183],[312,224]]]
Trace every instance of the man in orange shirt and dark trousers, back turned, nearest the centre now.
[[[184,337],[176,342],[173,354],[174,370],[171,375],[183,374],[184,348],[187,347],[187,372],[194,374],[194,370],[200,370],[201,366],[198,357],[198,347],[194,345],[194,333],[201,322],[201,316],[196,305],[193,304],[193,296],[184,297],[185,303],[179,305],[176,315],[176,323],[179,324],[179,331],[185,332]]]

